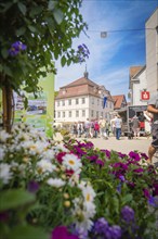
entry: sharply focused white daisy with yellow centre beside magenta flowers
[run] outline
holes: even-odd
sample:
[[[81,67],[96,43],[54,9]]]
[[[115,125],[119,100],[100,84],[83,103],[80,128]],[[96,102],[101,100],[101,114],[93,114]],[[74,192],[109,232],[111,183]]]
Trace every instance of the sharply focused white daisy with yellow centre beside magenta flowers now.
[[[74,172],[77,172],[81,168],[82,163],[77,155],[73,153],[67,153],[63,156],[63,165],[67,169],[73,169]]]

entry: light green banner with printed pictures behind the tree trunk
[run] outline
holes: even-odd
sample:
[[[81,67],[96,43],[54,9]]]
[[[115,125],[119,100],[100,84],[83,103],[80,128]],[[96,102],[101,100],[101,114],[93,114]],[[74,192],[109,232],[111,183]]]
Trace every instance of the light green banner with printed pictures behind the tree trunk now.
[[[42,91],[38,98],[27,93],[28,108],[24,109],[23,98],[14,93],[15,122],[25,122],[35,128],[52,135],[54,121],[54,74],[48,73],[45,78],[39,79]]]

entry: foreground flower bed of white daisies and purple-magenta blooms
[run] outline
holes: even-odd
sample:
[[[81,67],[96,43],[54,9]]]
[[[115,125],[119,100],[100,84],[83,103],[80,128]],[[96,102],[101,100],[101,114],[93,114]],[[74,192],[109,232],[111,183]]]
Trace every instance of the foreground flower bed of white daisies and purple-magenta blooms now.
[[[27,125],[0,138],[2,238],[156,238],[157,172],[144,153],[56,143]]]

